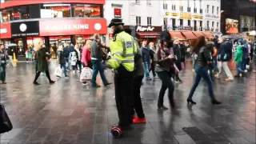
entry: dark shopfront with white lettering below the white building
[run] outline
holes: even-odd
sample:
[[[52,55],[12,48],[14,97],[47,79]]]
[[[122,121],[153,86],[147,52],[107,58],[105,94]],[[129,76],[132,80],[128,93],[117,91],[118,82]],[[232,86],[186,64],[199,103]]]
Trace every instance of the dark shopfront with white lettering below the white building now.
[[[135,26],[136,37],[139,42],[146,40],[156,43],[160,38],[161,31],[162,26]]]

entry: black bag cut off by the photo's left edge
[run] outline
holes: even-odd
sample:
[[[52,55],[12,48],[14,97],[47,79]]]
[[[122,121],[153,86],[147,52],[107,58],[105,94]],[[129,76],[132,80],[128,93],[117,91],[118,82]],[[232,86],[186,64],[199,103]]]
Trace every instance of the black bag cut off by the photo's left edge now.
[[[0,134],[6,133],[13,129],[13,125],[10,122],[10,118],[8,117],[5,106],[0,103]]]

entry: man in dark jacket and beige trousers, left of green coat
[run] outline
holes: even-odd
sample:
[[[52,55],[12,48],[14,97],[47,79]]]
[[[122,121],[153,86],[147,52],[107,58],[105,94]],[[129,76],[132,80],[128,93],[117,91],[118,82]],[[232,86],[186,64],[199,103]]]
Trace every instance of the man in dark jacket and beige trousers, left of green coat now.
[[[215,74],[215,78],[220,78],[220,74],[222,74],[222,68],[226,72],[228,78],[225,79],[226,82],[233,81],[233,75],[230,72],[230,68],[228,66],[228,62],[232,58],[232,45],[229,42],[225,42],[224,38],[219,38],[218,43],[220,43],[218,49],[218,74]]]

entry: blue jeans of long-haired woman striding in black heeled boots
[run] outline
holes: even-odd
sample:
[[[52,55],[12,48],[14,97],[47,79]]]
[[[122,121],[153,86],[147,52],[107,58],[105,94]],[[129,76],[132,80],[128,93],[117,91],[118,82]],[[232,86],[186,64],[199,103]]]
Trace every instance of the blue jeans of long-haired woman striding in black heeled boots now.
[[[213,84],[212,84],[212,81],[211,81],[210,76],[208,74],[208,68],[207,67],[195,66],[195,72],[196,72],[196,76],[195,76],[194,84],[193,84],[193,86],[190,90],[189,98],[193,97],[194,91],[197,89],[201,78],[203,78],[207,82],[208,92],[209,92],[210,98],[212,100],[214,100]]]

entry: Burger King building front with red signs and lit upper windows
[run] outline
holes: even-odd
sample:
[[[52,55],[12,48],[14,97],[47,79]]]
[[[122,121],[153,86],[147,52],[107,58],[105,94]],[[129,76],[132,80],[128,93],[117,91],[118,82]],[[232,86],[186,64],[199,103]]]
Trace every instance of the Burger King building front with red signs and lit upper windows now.
[[[104,4],[105,0],[3,2],[0,39],[5,44],[18,45],[18,58],[41,40],[53,54],[60,42],[82,46],[82,40],[92,38],[95,33],[104,40],[107,34]]]

